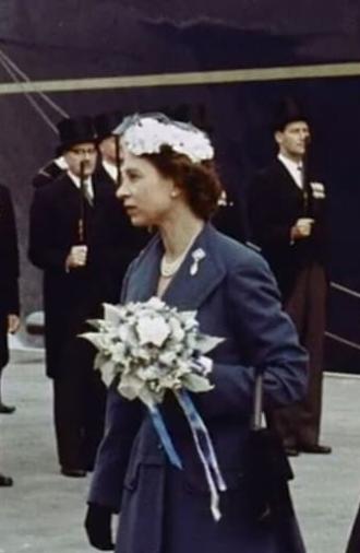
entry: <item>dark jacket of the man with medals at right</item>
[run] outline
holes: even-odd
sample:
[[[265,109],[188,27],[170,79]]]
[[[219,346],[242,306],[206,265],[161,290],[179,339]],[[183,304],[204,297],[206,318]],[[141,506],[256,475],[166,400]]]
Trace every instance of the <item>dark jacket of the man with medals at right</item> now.
[[[249,188],[251,239],[267,259],[285,298],[303,267],[313,261],[325,264],[326,200],[316,199],[309,184],[307,190],[309,201],[304,209],[303,191],[278,160],[259,173]],[[313,217],[313,232],[309,238],[291,244],[290,230],[299,217]]]

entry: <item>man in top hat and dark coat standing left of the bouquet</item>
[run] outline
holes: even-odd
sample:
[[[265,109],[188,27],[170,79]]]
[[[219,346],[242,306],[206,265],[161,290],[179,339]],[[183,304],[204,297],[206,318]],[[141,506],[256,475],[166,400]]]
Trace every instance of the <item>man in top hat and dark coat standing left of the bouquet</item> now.
[[[63,119],[58,129],[57,153],[68,170],[35,190],[29,259],[44,271],[46,364],[53,379],[61,472],[84,476],[103,435],[106,390],[93,369],[94,349],[77,334],[87,319],[101,315],[103,302],[118,301],[120,282],[112,272],[118,243],[109,192],[94,179],[93,120]]]

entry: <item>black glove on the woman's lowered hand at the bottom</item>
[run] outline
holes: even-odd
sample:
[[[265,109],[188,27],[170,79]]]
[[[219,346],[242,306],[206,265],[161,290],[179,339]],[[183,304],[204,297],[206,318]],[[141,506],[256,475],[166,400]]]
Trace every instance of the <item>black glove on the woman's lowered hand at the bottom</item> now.
[[[89,503],[86,517],[85,530],[91,544],[101,551],[112,551],[115,544],[111,536],[112,510],[104,505]]]

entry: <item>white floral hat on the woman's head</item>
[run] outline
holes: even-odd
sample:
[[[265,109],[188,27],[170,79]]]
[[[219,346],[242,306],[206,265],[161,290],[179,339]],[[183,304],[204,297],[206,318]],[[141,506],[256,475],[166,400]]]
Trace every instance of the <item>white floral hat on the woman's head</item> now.
[[[205,132],[191,123],[169,119],[164,114],[125,117],[113,133],[122,136],[125,148],[134,155],[157,154],[161,146],[167,145],[193,163],[214,157],[214,148]]]

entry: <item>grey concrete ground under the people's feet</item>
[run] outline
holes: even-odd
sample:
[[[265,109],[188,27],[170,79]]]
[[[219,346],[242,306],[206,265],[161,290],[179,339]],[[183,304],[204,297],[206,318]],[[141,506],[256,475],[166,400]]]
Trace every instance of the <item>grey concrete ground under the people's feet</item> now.
[[[0,466],[13,489],[0,489],[0,553],[91,552],[82,529],[88,479],[58,473],[51,387],[38,353],[13,354],[4,374],[8,402],[0,415]],[[323,440],[332,456],[295,460],[295,502],[308,553],[344,553],[360,501],[360,379],[326,377]],[[241,552],[247,553],[247,552]]]

